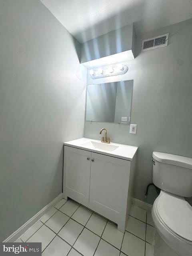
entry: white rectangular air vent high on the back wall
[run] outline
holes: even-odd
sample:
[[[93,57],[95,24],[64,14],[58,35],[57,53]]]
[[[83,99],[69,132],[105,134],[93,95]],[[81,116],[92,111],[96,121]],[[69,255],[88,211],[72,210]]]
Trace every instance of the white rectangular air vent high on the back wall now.
[[[143,40],[141,51],[143,52],[143,51],[167,46],[168,36],[169,36],[169,33]]]

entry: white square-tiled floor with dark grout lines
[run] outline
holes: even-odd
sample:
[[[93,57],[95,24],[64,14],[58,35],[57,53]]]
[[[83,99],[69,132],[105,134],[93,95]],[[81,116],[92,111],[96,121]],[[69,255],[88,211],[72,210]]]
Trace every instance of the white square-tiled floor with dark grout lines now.
[[[116,224],[62,199],[16,242],[42,242],[43,256],[152,256],[151,213],[132,206],[125,233]]]

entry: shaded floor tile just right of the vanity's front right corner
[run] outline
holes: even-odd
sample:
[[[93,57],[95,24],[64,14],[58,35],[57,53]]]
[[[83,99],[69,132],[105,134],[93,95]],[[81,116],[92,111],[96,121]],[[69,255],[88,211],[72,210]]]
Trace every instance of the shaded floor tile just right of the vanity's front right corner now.
[[[127,220],[126,230],[145,240],[146,224],[144,222],[137,220],[132,216],[129,216]]]

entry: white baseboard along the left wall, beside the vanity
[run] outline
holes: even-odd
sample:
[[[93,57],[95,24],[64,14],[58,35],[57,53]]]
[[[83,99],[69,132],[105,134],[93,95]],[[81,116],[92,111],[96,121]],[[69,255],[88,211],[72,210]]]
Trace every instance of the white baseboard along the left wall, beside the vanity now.
[[[63,193],[59,194],[52,202],[47,204],[42,210],[36,213],[30,220],[24,223],[18,230],[13,232],[8,238],[6,238],[3,242],[14,242],[16,241],[28,228],[30,228],[33,224],[35,224],[50,208],[56,205],[63,198]]]

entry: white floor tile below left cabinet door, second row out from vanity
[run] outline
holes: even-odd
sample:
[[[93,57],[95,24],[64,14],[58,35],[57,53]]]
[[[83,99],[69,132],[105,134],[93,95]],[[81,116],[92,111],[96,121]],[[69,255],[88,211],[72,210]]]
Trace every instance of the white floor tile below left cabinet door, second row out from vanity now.
[[[84,227],[82,225],[70,219],[58,233],[58,236],[63,238],[70,245],[73,245],[79,234],[82,232],[83,228]]]

